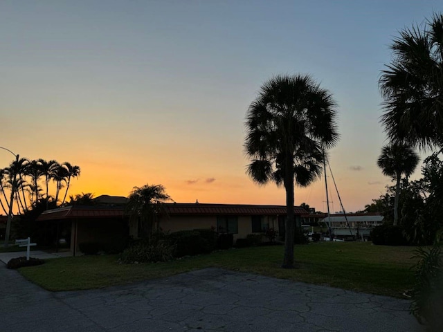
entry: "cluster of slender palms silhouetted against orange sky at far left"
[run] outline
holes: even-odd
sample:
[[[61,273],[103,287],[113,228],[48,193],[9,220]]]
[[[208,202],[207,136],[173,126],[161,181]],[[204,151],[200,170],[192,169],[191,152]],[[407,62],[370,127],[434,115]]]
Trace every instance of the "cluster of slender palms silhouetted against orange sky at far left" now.
[[[71,185],[71,179],[80,176],[80,167],[55,160],[28,160],[17,158],[9,167],[0,169],[0,205],[5,214],[15,203],[17,213],[26,212],[38,201],[55,201],[61,204]],[[55,184],[55,193],[50,195],[50,183]],[[65,190],[62,190],[65,188]]]

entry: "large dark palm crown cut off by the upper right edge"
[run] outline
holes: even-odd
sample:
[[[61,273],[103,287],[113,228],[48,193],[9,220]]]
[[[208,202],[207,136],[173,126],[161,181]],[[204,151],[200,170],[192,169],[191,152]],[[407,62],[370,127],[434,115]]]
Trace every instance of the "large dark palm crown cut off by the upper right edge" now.
[[[443,148],[443,14],[400,31],[379,80],[391,142]]]

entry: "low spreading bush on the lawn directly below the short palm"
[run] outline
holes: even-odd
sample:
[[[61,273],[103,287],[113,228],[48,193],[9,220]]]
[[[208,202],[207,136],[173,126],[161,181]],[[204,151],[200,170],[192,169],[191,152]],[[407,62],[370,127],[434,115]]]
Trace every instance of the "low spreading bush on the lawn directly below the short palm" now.
[[[134,241],[131,246],[123,250],[123,263],[146,263],[148,261],[169,261],[173,258],[175,246],[167,240]]]

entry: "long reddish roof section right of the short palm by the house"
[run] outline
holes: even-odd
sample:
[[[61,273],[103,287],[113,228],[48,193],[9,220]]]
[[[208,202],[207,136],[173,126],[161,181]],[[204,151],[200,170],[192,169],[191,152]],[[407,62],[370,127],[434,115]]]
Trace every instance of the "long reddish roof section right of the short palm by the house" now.
[[[166,203],[166,211],[170,215],[286,215],[285,205],[246,205],[246,204],[206,204],[206,203]],[[295,214],[305,214],[306,211],[294,206]]]

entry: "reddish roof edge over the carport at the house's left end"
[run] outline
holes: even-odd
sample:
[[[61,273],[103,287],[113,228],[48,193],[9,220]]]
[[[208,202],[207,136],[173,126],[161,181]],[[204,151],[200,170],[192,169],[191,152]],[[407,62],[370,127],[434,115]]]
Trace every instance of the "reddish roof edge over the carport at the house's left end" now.
[[[37,221],[113,217],[123,217],[123,208],[95,205],[73,205],[64,208],[46,210],[39,215]]]

